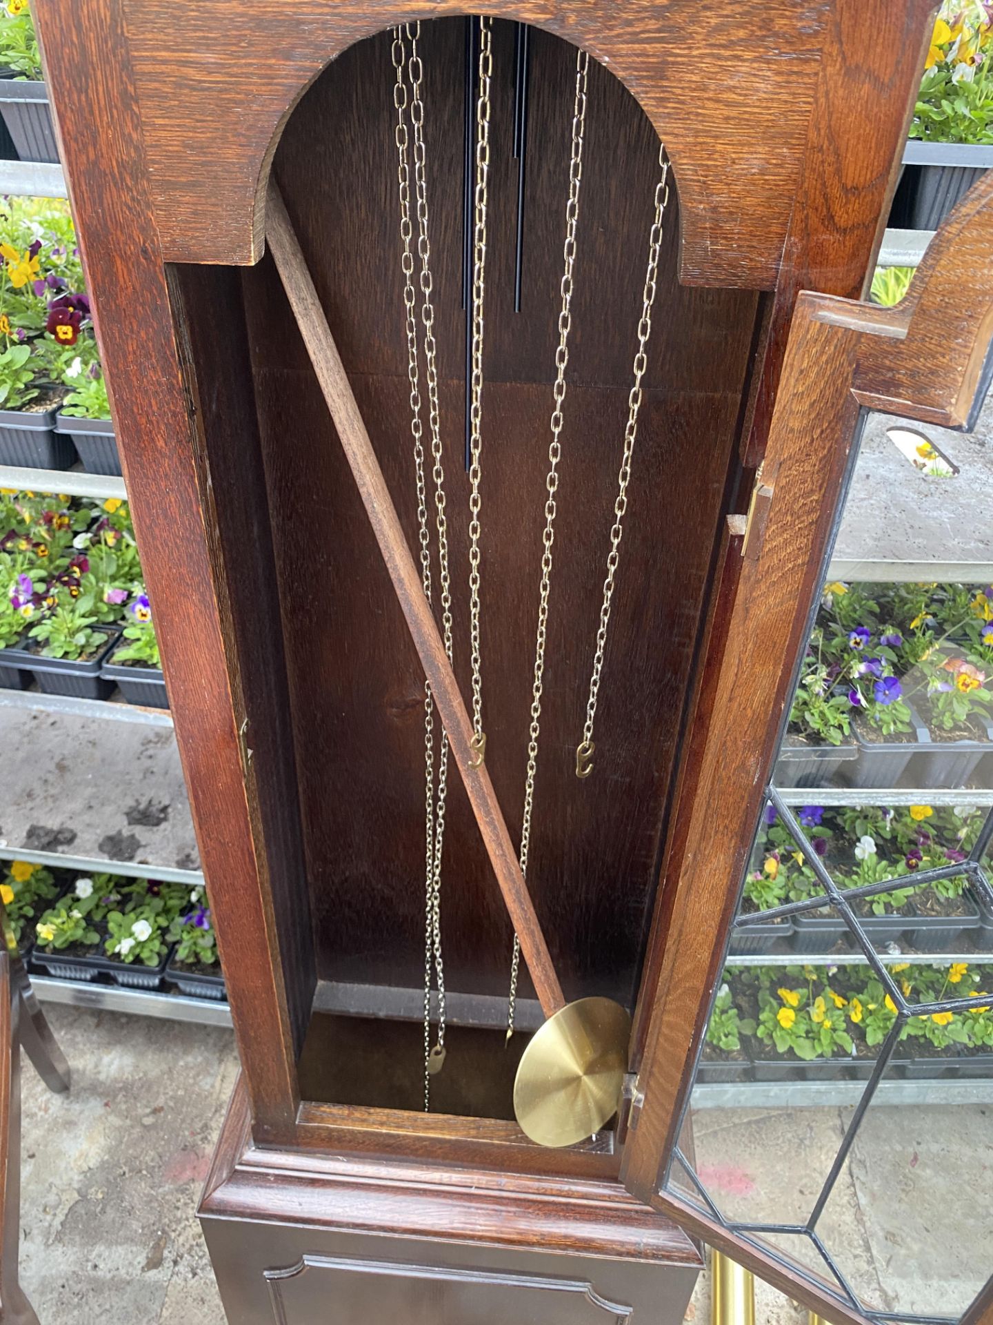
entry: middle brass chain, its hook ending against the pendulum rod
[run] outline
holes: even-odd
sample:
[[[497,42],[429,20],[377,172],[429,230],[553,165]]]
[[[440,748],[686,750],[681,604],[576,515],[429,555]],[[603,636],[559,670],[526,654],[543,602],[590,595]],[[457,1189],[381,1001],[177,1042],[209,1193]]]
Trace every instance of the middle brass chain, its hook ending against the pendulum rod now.
[[[475,189],[473,195],[473,326],[469,378],[469,644],[473,669],[473,767],[486,758],[483,681],[479,662],[479,480],[483,421],[483,297],[486,293],[486,212],[490,179],[490,19],[479,20],[479,94],[475,102]]]

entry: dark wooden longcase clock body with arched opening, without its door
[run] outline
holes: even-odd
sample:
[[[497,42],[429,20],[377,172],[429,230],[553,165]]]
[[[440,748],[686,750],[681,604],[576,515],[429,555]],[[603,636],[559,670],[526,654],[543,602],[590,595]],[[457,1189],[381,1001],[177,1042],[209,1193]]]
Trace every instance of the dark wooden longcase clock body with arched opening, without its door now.
[[[687,824],[720,743],[712,696],[743,564],[737,513],[765,452],[796,293],[857,298],[871,272],[928,5],[748,0],[731,37],[695,0],[494,3],[482,23],[451,5],[214,0],[179,29],[164,0],[36,8],[244,1065],[200,1210],[228,1317],[679,1321],[700,1253],[661,1212],[658,1174],[745,832],[726,900],[698,917],[699,946],[666,941],[687,860],[712,848],[706,835],[690,841]],[[903,40],[878,50],[883,15]],[[408,21],[397,60],[391,26]],[[489,42],[491,69],[481,69]],[[706,94],[702,49],[712,52]],[[406,121],[406,240],[397,70],[402,95],[417,82],[422,98],[422,148]],[[71,98],[60,95],[66,82]],[[347,372],[342,408],[354,395],[414,558],[400,598],[402,567],[391,582],[373,531],[381,494],[364,504],[344,416],[331,423],[275,231],[266,249],[266,200],[271,227],[278,196]],[[441,632],[434,655],[418,640],[420,656],[401,610],[420,592],[422,529],[405,244]],[[649,293],[650,335],[639,323]],[[797,620],[842,448],[802,554]],[[422,665],[426,648],[445,668],[438,461],[451,662],[474,741],[463,758],[449,723],[441,951],[425,874]],[[591,738],[618,518],[594,745],[577,753]],[[728,780],[743,815],[756,812],[786,681],[771,678],[749,768]],[[436,700],[444,712],[437,685]],[[514,925],[487,855],[499,833],[481,831],[463,786],[482,776],[470,767],[482,731],[512,852],[530,829],[526,957],[534,966],[543,937],[565,1000],[609,999],[633,1019],[617,1110],[564,1147],[538,1145],[515,1118],[519,1061],[555,1000],[538,996],[543,982],[522,961],[507,1037]],[[441,749],[436,712],[436,832]],[[445,1057],[425,1112],[425,1049],[442,1047],[440,957]],[[661,1012],[679,1000],[683,1028],[659,1043]]]

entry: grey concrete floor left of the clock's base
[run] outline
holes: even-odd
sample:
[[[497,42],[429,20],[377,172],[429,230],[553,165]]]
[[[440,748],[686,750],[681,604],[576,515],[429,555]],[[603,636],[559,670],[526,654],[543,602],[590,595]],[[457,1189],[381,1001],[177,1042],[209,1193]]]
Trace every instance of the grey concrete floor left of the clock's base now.
[[[21,1281],[46,1325],[224,1325],[196,1202],[237,1073],[216,1027],[52,1007],[73,1088],[24,1063]]]

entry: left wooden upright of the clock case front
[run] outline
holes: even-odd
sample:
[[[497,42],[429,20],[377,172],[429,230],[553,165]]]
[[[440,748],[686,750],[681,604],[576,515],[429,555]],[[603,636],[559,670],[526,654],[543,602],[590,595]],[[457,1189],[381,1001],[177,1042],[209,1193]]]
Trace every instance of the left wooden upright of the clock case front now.
[[[293,1133],[293,1026],[209,458],[180,371],[122,0],[33,7],[258,1137]],[[111,58],[113,53],[113,58]],[[85,106],[86,114],[78,114]],[[109,126],[114,126],[109,132]],[[136,347],[140,346],[140,354]]]

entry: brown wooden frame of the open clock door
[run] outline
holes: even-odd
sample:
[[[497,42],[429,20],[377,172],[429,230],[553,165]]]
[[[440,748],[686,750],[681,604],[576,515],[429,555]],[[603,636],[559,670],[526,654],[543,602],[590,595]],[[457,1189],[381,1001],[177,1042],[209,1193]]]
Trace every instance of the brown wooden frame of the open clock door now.
[[[967,272],[969,290],[963,297]],[[896,307],[810,293],[798,297],[752,511],[730,522],[730,537],[741,545],[740,566],[711,621],[698,701],[699,746],[683,783],[692,808],[671,857],[667,942],[645,1027],[639,1109],[622,1177],[642,1200],[831,1321],[879,1316],[862,1314],[838,1283],[821,1288],[817,1275],[806,1276],[773,1248],[763,1248],[755,1238],[757,1224],[749,1226],[751,1238],[737,1231],[699,1182],[687,1186],[694,1161],[681,1129],[687,1126],[694,1069],[736,909],[726,882],[744,877],[797,659],[825,582],[859,424],[866,411],[878,409],[972,431],[989,387],[992,337],[993,175],[937,231]],[[761,676],[755,668],[759,656]],[[779,731],[769,722],[771,702],[782,716]],[[765,733],[761,747],[756,733]],[[816,800],[817,792],[808,798]],[[780,814],[786,808],[780,803]],[[883,1071],[879,1064],[866,1085],[839,1162]],[[806,1283],[801,1285],[798,1276]],[[961,1321],[993,1321],[993,1279]]]

